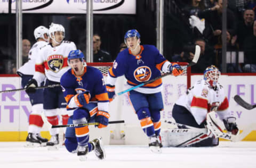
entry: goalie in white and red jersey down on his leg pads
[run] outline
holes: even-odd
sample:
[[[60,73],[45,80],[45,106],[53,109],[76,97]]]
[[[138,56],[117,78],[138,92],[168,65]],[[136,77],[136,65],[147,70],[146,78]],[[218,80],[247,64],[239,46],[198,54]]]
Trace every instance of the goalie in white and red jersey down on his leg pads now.
[[[207,67],[204,78],[175,102],[172,116],[176,123],[169,123],[174,123],[176,128],[162,131],[164,147],[217,146],[219,137],[232,140],[231,135],[238,135],[236,118],[228,111],[228,99],[218,83],[219,77],[216,66]]]

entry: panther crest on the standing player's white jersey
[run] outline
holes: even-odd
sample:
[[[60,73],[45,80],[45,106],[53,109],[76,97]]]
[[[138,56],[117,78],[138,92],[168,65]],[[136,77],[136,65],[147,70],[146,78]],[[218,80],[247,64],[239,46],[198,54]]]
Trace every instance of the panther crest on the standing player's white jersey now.
[[[63,55],[50,55],[47,58],[49,69],[53,72],[58,72],[63,65]]]

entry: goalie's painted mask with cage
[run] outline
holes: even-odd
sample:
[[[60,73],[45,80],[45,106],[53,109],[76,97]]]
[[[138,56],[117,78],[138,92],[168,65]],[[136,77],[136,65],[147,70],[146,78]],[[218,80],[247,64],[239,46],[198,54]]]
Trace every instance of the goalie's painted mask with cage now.
[[[209,82],[212,87],[217,85],[220,71],[215,65],[208,66],[204,71],[204,80]]]

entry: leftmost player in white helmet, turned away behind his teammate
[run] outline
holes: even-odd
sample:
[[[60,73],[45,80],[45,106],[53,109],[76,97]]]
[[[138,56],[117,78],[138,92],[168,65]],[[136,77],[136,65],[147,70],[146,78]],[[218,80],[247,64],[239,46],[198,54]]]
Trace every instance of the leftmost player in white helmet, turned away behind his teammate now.
[[[49,30],[44,26],[39,26],[34,30],[34,36],[37,42],[29,51],[29,61],[21,66],[21,68],[17,71],[17,73],[22,78],[22,87],[25,87],[27,82],[33,78],[35,73],[36,58],[39,49],[46,46],[47,42],[49,41]],[[38,89],[35,93],[29,93],[28,96],[32,105],[32,113],[29,115],[26,147],[37,147],[40,145],[46,146],[46,142],[48,140],[40,136],[40,131],[44,124],[41,117],[41,114],[43,113],[43,90]]]

